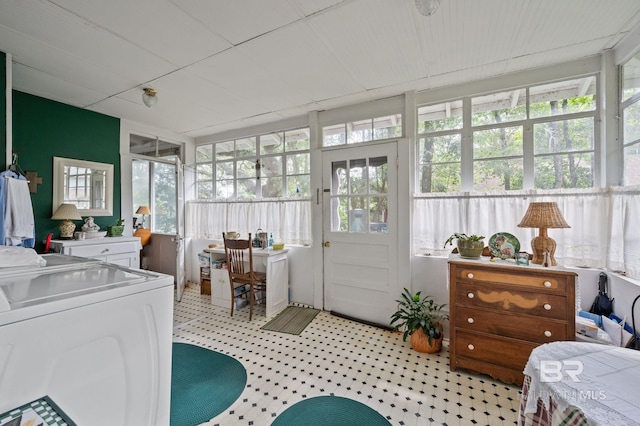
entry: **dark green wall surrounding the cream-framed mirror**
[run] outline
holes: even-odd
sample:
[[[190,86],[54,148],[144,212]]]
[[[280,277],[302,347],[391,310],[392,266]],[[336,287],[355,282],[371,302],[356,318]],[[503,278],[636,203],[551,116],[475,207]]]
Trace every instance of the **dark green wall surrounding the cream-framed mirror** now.
[[[51,220],[53,157],[75,158],[114,165],[114,216],[96,216],[106,230],[120,218],[120,120],[96,112],[13,91],[13,152],[24,171],[42,177],[31,194],[36,220],[36,249],[50,232],[59,235],[59,221]],[[76,229],[83,222],[75,221]]]

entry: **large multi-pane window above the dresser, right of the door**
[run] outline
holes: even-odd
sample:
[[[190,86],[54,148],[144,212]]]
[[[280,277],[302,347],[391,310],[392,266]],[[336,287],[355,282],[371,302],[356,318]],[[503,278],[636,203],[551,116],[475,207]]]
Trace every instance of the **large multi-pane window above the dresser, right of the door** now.
[[[587,76],[419,107],[417,191],[592,187],[595,93]]]

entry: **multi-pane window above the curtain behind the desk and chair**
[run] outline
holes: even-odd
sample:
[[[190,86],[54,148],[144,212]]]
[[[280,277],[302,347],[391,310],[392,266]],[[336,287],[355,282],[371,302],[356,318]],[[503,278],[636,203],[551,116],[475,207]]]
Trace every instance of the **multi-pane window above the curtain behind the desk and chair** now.
[[[200,145],[196,187],[200,200],[310,197],[309,129]]]

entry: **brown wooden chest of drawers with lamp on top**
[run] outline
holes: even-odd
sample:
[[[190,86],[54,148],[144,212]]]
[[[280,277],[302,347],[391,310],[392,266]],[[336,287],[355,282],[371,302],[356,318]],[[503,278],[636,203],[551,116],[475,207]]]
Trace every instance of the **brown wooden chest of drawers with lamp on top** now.
[[[575,340],[575,279],[562,268],[450,260],[450,368],[522,385],[536,346]]]

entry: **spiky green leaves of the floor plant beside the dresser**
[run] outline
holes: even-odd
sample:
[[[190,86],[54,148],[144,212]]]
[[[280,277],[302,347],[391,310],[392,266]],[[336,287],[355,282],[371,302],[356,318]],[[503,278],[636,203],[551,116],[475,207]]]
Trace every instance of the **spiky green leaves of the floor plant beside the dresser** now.
[[[404,329],[403,341],[419,329],[429,337],[430,345],[433,339],[442,337],[442,321],[449,319],[449,315],[442,312],[446,305],[435,303],[431,296],[422,297],[421,292],[411,294],[406,288],[396,302],[398,310],[391,315],[391,325],[395,331]]]

